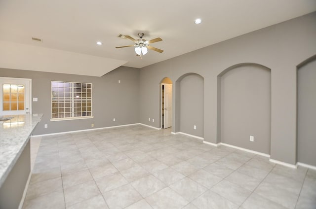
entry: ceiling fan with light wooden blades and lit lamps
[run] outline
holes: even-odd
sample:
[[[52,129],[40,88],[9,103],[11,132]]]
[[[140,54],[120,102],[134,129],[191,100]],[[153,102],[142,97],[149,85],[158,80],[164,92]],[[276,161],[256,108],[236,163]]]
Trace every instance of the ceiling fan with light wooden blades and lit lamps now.
[[[118,46],[116,48],[119,49],[119,48],[124,48],[124,47],[136,46],[135,47],[135,52],[136,52],[136,55],[138,55],[138,56],[142,56],[142,55],[147,54],[147,49],[151,49],[151,50],[157,51],[159,53],[163,52],[163,50],[155,48],[155,47],[152,47],[152,46],[149,45],[151,43],[162,41],[162,39],[160,37],[154,38],[154,39],[151,39],[151,40],[145,40],[145,39],[143,39],[144,33],[138,33],[137,35],[139,36],[139,38],[137,40],[135,38],[129,36],[129,35],[121,35],[121,34],[118,35],[118,37],[127,38],[127,39],[135,42],[135,44],[134,45],[128,45],[128,46]]]

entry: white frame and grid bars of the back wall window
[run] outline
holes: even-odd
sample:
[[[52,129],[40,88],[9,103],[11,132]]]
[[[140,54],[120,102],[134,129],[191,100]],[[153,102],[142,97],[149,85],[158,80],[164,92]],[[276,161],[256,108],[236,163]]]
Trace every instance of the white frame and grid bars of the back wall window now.
[[[53,84],[53,82],[56,82],[56,83],[70,83],[71,84],[71,86],[69,87],[69,88],[71,88],[71,96],[69,97],[70,99],[69,100],[71,100],[71,107],[69,107],[69,108],[71,108],[71,111],[70,111],[70,117],[60,117],[60,118],[53,118],[53,114],[56,114],[55,112],[53,112],[53,101],[59,101],[58,99],[58,96],[59,95],[57,95],[57,100],[53,100],[53,98],[54,98],[54,95],[53,95],[53,88],[56,88],[56,87],[53,87],[52,86],[52,84]],[[75,103],[76,103],[76,95],[75,95],[75,89],[76,88],[78,88],[78,87],[76,87],[75,86],[75,84],[90,84],[91,85],[91,101],[89,101],[90,103],[91,103],[91,115],[89,115],[89,116],[77,116],[77,115],[75,115],[75,112],[77,112],[77,111],[75,111]],[[66,87],[63,87],[64,89],[66,88]],[[82,90],[82,87],[80,87],[81,88],[81,90]],[[70,81],[51,81],[50,82],[50,92],[51,92],[51,102],[50,102],[50,104],[51,104],[51,107],[50,107],[50,112],[51,112],[51,119],[50,119],[50,121],[62,121],[62,120],[79,120],[79,119],[89,119],[89,118],[93,118],[93,111],[92,111],[92,83],[86,83],[86,82],[70,82]],[[57,94],[58,94],[59,92],[57,92]],[[82,93],[82,91],[80,92],[80,93]],[[87,92],[86,92],[87,93]],[[64,94],[65,94],[65,92],[64,92]],[[87,97],[85,97],[85,98],[87,98]],[[64,96],[64,99],[63,100],[65,100],[65,96]],[[86,102],[88,102],[88,100],[87,99],[85,99],[86,100]],[[80,102],[82,102],[83,100],[81,99],[81,100],[79,100]],[[57,103],[57,104],[59,104],[59,103]],[[56,107],[54,107],[54,108],[56,108]],[[63,106],[63,107],[57,107],[57,109],[58,108],[66,108],[65,106]],[[82,108],[82,106],[81,106],[81,108]],[[87,108],[87,106],[86,106],[86,108]],[[80,111],[81,113],[82,112],[88,112],[87,110],[86,111],[82,111],[82,109],[81,109],[81,111]],[[64,111],[64,113],[65,113],[65,111]]]

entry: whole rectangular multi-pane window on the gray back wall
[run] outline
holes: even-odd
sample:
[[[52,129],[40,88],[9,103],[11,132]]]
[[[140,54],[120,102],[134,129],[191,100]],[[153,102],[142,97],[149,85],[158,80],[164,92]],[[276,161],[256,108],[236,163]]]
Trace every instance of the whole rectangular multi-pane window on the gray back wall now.
[[[92,118],[92,83],[51,82],[51,120]]]

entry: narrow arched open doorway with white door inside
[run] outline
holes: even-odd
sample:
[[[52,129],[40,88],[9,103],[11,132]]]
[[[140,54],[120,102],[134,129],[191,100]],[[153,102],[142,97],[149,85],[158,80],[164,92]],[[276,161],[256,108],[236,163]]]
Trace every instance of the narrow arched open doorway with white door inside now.
[[[170,128],[172,124],[172,81],[166,77],[161,81],[161,128]]]

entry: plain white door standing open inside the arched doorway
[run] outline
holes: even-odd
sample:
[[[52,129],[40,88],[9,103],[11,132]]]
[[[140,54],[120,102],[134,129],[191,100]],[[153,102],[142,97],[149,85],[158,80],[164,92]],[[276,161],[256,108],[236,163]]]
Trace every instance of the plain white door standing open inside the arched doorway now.
[[[164,93],[163,93],[163,99],[164,99],[164,117],[163,117],[163,128],[169,128],[171,127],[171,116],[172,116],[172,84],[166,84],[164,83]]]

